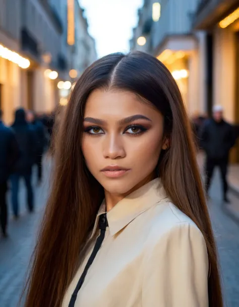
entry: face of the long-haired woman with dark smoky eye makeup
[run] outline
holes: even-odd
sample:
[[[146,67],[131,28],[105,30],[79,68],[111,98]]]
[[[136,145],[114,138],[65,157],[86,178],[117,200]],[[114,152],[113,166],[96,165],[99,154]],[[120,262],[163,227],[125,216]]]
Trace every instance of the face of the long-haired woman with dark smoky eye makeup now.
[[[134,93],[97,89],[89,96],[82,151],[108,193],[127,194],[153,179],[165,143],[162,114]]]

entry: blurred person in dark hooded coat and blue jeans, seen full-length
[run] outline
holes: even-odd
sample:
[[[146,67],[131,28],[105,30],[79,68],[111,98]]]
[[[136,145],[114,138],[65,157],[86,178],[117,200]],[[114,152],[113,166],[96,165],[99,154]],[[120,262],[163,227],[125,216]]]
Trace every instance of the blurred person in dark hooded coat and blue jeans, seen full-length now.
[[[29,212],[33,211],[33,190],[32,190],[32,165],[36,157],[36,137],[31,125],[26,121],[26,113],[23,108],[19,108],[15,113],[15,121],[12,126],[20,148],[20,159],[18,160],[14,174],[11,176],[12,183],[12,205],[15,218],[19,216],[18,190],[19,180],[24,178],[27,188],[27,204]]]

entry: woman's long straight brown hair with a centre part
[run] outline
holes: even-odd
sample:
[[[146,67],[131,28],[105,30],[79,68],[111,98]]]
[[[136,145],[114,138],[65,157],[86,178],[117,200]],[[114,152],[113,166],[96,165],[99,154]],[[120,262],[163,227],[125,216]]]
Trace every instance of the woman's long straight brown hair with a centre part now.
[[[25,288],[25,307],[62,305],[103,199],[103,189],[88,171],[81,150],[85,104],[97,88],[134,92],[164,115],[170,149],[160,155],[158,173],[173,203],[204,235],[209,306],[222,307],[216,245],[183,99],[166,67],[142,52],[97,60],[71,93],[55,142],[53,183]]]

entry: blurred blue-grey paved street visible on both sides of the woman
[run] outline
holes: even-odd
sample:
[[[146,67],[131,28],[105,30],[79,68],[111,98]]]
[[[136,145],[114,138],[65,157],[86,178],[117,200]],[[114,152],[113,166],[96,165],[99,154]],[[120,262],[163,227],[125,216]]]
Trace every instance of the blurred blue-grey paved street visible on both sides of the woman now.
[[[48,177],[49,162],[45,163],[45,178]],[[35,179],[35,178],[34,178]],[[36,181],[36,180],[35,180]],[[34,183],[35,185],[35,183]],[[21,191],[21,219],[10,220],[9,239],[0,239],[0,306],[15,307],[21,292],[23,280],[33,249],[37,226],[45,204],[48,179],[36,188],[36,211],[26,212],[24,188]],[[239,224],[221,203],[220,182],[215,172],[210,190],[209,209],[216,234],[222,268],[223,288],[226,307],[239,306]],[[232,205],[239,207],[239,199],[229,195]]]

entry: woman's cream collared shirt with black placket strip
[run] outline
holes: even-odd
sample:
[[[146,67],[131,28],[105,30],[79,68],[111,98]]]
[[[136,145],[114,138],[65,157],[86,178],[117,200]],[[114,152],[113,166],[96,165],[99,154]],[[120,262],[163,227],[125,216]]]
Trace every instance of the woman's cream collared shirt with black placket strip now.
[[[71,295],[99,235],[99,215],[64,298]],[[107,213],[101,248],[78,292],[75,307],[207,307],[208,255],[195,223],[154,179]]]

